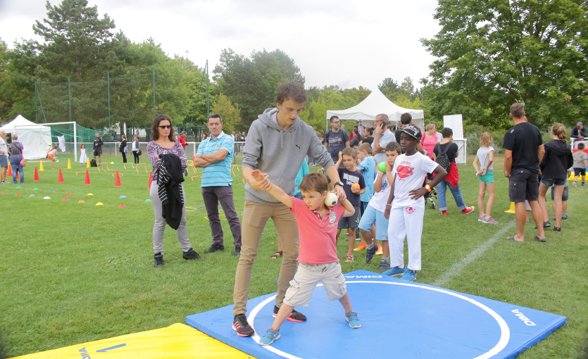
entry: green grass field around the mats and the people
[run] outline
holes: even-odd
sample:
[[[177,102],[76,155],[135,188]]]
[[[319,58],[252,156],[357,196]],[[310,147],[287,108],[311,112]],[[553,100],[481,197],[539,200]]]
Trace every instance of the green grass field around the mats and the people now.
[[[117,164],[110,165],[110,172],[89,169],[91,185],[84,184],[83,172],[75,173],[86,168],[74,163],[72,169],[65,169],[67,158],[60,158],[56,170],[44,163],[39,182],[32,181],[39,163],[31,161],[22,188],[0,185],[0,191],[8,192],[0,194],[4,232],[0,237],[1,357],[166,327],[184,322],[186,315],[232,304],[238,259],[232,257],[227,222],[223,221],[225,251],[206,253],[199,261],[182,259],[175,232],[168,227],[165,267],[154,268],[153,208],[145,202],[149,175],[142,168],[137,173],[131,165],[125,170],[120,157],[106,160]],[[477,206],[478,180],[472,160],[460,166],[461,188],[468,206]],[[525,229],[525,243],[507,241],[515,233],[514,215],[504,213],[509,206],[508,181],[501,172],[503,158],[495,160],[497,198],[492,215],[499,224],[477,222],[477,208],[462,215],[451,195],[448,217],[427,209],[423,270],[417,282],[433,284],[445,278],[443,286],[448,289],[565,315],[565,327],[520,358],[588,358],[588,187],[570,187],[570,220],[562,223],[561,233],[546,230],[546,243],[533,241],[531,222]],[[58,183],[59,166],[64,183]],[[114,170],[123,175],[122,187],[114,186]],[[201,170],[197,171],[200,175]],[[194,175],[192,170],[190,174]],[[240,172],[236,176],[235,206],[242,213],[244,188]],[[211,235],[199,180],[188,178],[184,188],[190,241],[203,254]],[[21,195],[15,196],[17,192]],[[30,194],[35,197],[29,198]],[[121,195],[127,198],[119,199]],[[63,201],[65,197],[69,200]],[[80,200],[85,203],[77,203]],[[97,202],[104,206],[95,206]],[[118,208],[120,204],[126,208]],[[548,206],[552,216],[551,200]],[[455,263],[500,231],[503,234],[479,258],[446,277]],[[281,260],[270,259],[277,246],[275,237],[273,225],[268,224],[254,265],[250,298],[277,289]],[[345,258],[346,246],[346,241],[339,240],[339,258]],[[370,265],[364,259],[365,251],[355,263],[342,263],[344,272],[377,271],[380,256]],[[394,298],[395,303],[401,301]]]

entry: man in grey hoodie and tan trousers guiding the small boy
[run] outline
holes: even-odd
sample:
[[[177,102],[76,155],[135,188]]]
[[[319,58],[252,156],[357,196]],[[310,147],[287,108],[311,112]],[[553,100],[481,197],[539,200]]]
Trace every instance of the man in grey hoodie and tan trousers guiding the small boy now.
[[[235,273],[233,291],[232,328],[239,336],[251,336],[254,329],[247,322],[245,313],[251,267],[257,256],[259,240],[265,222],[272,218],[277,235],[282,241],[282,267],[278,279],[274,316],[282,306],[289,282],[294,278],[298,258],[299,235],[296,219],[287,206],[277,201],[268,191],[270,181],[294,193],[294,180],[300,164],[308,153],[315,162],[327,169],[327,175],[334,181],[334,191],[339,199],[345,198],[343,184],[331,156],[320,143],[313,127],[299,117],[306,103],[306,91],[301,84],[290,82],[277,88],[276,108],[268,108],[259,115],[249,128],[243,149],[243,177],[245,184],[245,208],[242,220],[241,257]],[[263,180],[256,180],[251,172],[263,172]],[[304,322],[306,317],[297,312],[287,318],[291,322]]]

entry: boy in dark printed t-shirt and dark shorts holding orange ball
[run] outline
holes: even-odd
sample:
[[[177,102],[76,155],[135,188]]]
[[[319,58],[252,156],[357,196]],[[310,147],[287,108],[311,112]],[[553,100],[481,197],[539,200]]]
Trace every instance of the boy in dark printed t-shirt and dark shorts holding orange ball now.
[[[339,167],[343,162],[344,167]],[[339,152],[339,160],[335,163],[335,167],[337,171],[339,171],[339,178],[343,182],[343,189],[345,191],[345,195],[351,205],[355,208],[355,214],[351,215],[349,218],[341,218],[339,220],[339,225],[337,225],[337,238],[336,241],[339,240],[339,234],[341,234],[341,229],[348,229],[349,230],[349,250],[347,251],[347,257],[345,258],[346,263],[350,263],[354,261],[354,248],[355,248],[355,239],[356,239],[356,228],[359,224],[359,214],[360,214],[360,194],[365,192],[365,181],[363,180],[363,175],[361,172],[357,170],[356,167],[357,162],[357,151],[355,149],[351,149],[347,147],[343,149],[343,151]]]

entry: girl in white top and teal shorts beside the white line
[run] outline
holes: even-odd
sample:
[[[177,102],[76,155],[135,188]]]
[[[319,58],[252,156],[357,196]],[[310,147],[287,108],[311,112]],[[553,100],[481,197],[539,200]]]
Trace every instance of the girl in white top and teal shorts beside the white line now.
[[[476,175],[480,178],[480,191],[477,194],[477,208],[480,210],[480,217],[477,218],[479,222],[496,225],[498,222],[492,218],[492,206],[494,199],[496,199],[496,190],[494,189],[494,148],[492,144],[492,136],[488,132],[482,133],[480,137],[480,149],[477,150],[476,158],[474,159],[474,169]],[[480,163],[480,166],[478,166]],[[486,196],[486,188],[488,189],[488,202],[486,203],[486,212],[484,213],[484,197]]]

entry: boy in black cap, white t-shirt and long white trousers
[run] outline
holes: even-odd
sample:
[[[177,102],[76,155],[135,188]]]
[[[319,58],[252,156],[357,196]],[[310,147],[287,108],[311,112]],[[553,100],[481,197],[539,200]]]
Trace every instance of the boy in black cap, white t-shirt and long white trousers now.
[[[388,222],[388,244],[390,247],[390,269],[387,275],[404,271],[401,279],[413,281],[420,270],[420,239],[423,235],[425,199],[447,172],[432,159],[419,153],[416,147],[421,132],[415,125],[406,125],[400,134],[400,147],[404,154],[394,162],[394,182],[386,204],[384,215]],[[427,173],[434,173],[433,180],[423,187]],[[394,202],[392,202],[394,201]],[[404,268],[404,237],[408,242],[408,266]]]

